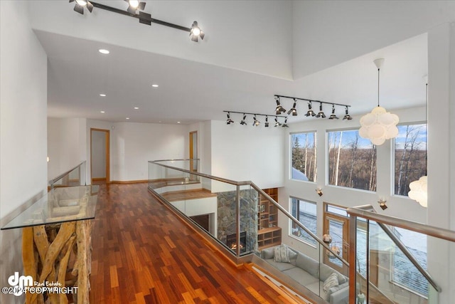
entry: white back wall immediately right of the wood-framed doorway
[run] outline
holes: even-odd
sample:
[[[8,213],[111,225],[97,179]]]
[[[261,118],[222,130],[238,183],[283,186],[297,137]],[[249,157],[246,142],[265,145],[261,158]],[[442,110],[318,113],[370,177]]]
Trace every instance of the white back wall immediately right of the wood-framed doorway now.
[[[111,132],[111,179],[148,179],[148,162],[188,158],[188,126],[117,122]]]

